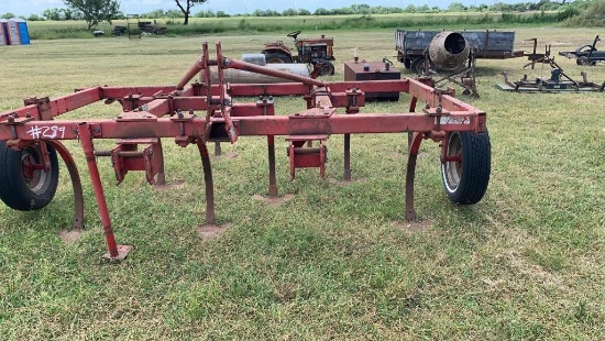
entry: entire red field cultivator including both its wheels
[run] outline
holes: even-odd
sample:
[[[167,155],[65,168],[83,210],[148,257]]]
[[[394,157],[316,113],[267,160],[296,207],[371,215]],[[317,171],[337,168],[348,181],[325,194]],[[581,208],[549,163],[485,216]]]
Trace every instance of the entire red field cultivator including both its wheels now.
[[[217,66],[218,82],[210,82],[210,66]],[[223,69],[235,68],[297,82],[272,85],[226,84]],[[191,80],[206,70],[202,81]],[[407,220],[415,220],[414,177],[418,148],[430,139],[441,148],[441,174],[450,200],[472,205],[481,200],[490,180],[491,150],[485,112],[432,88],[428,79],[323,82],[224,57],[217,44],[210,58],[204,44],[201,57],[175,86],[92,87],[63,97],[30,98],[25,107],[0,113],[0,199],[16,210],[45,207],[58,182],[58,157],[66,163],[75,195],[74,229],[82,227],[82,188],[76,164],[62,140],[78,140],[84,148],[95,198],[105,229],[107,257],[121,260],[130,246],[118,245],[108,212],[97,157],[111,157],[120,183],[127,173],[141,170],[150,184],[164,183],[162,138],[179,146],[197,145],[206,184],[206,224],[215,223],[209,142],[234,143],[240,136],[264,135],[268,151],[268,196],[277,197],[275,176],[276,135],[289,143],[290,176],[296,168],[318,167],[324,176],[326,140],[344,135],[344,179],[351,179],[351,134],[408,133],[406,176]],[[360,113],[366,91],[407,92],[408,112]],[[306,108],[289,116],[275,116],[274,97],[298,95]],[[235,103],[234,97],[256,101]],[[59,120],[61,114],[105,100],[118,101],[122,111],[109,119]],[[416,111],[418,100],[425,105]],[[338,108],[344,112],[337,113]],[[112,150],[96,150],[95,140],[112,139]],[[316,146],[309,146],[316,141]],[[317,143],[318,142],[318,143]]]

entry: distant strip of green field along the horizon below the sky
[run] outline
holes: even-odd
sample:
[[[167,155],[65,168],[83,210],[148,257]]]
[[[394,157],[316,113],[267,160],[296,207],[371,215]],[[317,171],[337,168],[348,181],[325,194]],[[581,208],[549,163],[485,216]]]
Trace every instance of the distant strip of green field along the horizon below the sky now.
[[[297,16],[231,16],[231,18],[190,18],[188,25],[183,25],[184,19],[141,19],[141,21],[155,22],[158,26],[167,28],[168,36],[187,36],[199,34],[262,34],[278,32],[285,35],[288,32],[301,30],[304,32],[326,30],[375,30],[375,29],[450,29],[463,30],[470,25],[476,29],[491,29],[497,26],[543,25],[556,23],[556,12],[471,12],[471,13],[403,13],[403,14],[373,14],[373,15],[297,15]],[[131,21],[136,23],[135,21]],[[127,20],[112,21],[113,25],[128,26]],[[84,21],[38,21],[30,22],[30,35],[35,40],[55,38],[92,38],[90,31],[86,30]],[[113,26],[102,23],[96,29],[110,34]]]

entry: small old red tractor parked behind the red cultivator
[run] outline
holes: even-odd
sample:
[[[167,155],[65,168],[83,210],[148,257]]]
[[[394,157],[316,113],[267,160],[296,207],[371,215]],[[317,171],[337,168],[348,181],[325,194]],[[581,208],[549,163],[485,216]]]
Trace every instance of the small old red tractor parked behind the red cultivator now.
[[[290,48],[284,42],[265,43],[262,54],[266,63],[306,63],[318,69],[319,76],[331,76],[334,74],[334,61],[332,47],[333,37],[321,35],[320,38],[299,40],[300,31],[290,32],[287,36],[294,38],[294,45],[298,52],[297,56],[292,54]]]

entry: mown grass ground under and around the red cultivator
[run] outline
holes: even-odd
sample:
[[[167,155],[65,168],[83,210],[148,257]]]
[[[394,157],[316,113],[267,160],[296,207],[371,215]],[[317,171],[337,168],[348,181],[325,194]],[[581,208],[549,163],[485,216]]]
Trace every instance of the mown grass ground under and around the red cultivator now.
[[[518,50],[531,37],[552,51],[575,50],[597,30],[518,29]],[[337,75],[359,47],[367,61],[392,57],[393,30],[321,32],[334,36]],[[33,41],[0,48],[0,112],[29,96],[58,96],[95,85],[176,84],[204,41],[227,56],[257,52],[283,34]],[[541,50],[542,47],[540,47]],[[556,61],[572,77],[605,67]],[[289,180],[286,143],[277,141],[282,205],[266,195],[264,139],[223,144],[213,157],[217,218],[229,228],[202,241],[204,178],[195,147],[164,142],[169,190],[129,174],[114,186],[99,160],[119,243],[134,245],[125,262],[101,261],[102,228],[77,142],[86,229],[66,243],[73,196],[63,167],[54,201],[19,212],[0,204],[0,336],[2,340],[602,340],[605,338],[604,94],[510,94],[512,79],[548,77],[525,59],[477,62],[477,100],[487,112],[492,177],[471,207],[452,205],[439,174],[439,148],[425,142],[418,160],[416,210],[426,229],[404,221],[406,134],[354,135],[348,186],[316,169]],[[400,66],[400,65],[397,65]],[[403,68],[402,68],[403,69]],[[407,76],[404,70],[404,76]],[[363,112],[407,111],[371,103]],[[279,98],[292,113],[298,98]],[[117,105],[67,118],[113,117]],[[96,142],[109,147],[112,141]],[[328,141],[328,177],[342,179],[342,136]],[[405,224],[404,224],[405,226]]]

